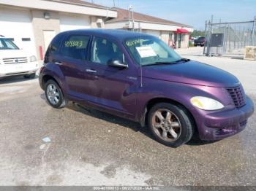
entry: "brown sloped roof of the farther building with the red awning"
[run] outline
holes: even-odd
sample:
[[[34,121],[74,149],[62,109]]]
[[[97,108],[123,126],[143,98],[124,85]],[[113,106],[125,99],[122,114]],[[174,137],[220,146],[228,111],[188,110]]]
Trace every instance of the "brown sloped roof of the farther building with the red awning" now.
[[[117,17],[108,20],[107,23],[114,23],[114,22],[129,20],[129,11],[127,9],[121,9],[116,7],[115,9],[117,10]],[[143,21],[146,23],[157,23],[157,24],[164,24],[164,25],[171,25],[171,26],[184,26],[184,27],[192,28],[192,26],[188,26],[186,24],[176,23],[171,20],[165,20],[159,17],[152,17],[150,15],[144,15],[139,12],[133,12],[133,17],[135,21]]]

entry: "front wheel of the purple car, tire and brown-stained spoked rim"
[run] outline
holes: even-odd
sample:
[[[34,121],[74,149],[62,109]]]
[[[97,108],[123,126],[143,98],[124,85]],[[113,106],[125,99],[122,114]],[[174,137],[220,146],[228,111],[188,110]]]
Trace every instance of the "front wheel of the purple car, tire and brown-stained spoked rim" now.
[[[167,112],[170,112],[170,115]],[[166,119],[159,120],[159,113]],[[147,122],[154,139],[168,147],[178,147],[187,143],[195,129],[194,121],[187,109],[168,103],[154,105],[148,112]]]

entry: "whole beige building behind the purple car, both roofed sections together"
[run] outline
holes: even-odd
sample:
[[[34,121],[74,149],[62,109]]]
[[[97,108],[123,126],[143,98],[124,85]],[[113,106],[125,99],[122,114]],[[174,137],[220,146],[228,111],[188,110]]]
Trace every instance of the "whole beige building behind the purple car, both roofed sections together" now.
[[[78,28],[120,28],[159,36],[167,44],[187,47],[192,27],[128,10],[82,0],[0,0],[0,35],[37,58],[53,37]]]

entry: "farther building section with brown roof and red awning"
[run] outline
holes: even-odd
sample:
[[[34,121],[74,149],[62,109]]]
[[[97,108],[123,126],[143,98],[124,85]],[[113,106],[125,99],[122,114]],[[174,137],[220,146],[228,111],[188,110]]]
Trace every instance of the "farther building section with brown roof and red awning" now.
[[[192,26],[165,20],[159,17],[143,15],[131,9],[117,9],[117,17],[105,22],[105,28],[120,28],[141,31],[146,34],[158,36],[170,46],[176,44],[177,48],[188,47],[189,34]]]

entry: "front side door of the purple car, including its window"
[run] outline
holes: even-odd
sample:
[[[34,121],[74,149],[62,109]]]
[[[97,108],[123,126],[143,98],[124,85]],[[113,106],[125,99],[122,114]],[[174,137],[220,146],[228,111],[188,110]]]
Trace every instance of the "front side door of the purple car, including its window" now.
[[[136,95],[133,90],[138,87],[138,74],[132,66],[128,69],[108,66],[110,59],[126,62],[124,51],[116,43],[94,37],[88,68],[98,78],[94,80],[97,87],[97,99],[94,104],[110,109],[118,115],[133,118],[136,106]]]

